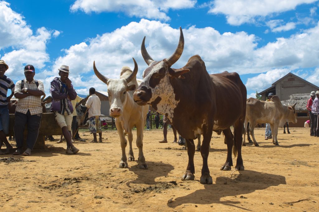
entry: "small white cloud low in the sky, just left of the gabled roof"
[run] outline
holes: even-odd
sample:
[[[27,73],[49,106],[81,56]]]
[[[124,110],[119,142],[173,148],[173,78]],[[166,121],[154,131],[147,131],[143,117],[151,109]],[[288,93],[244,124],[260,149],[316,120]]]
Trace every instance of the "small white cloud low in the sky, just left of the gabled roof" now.
[[[255,77],[247,79],[247,90],[254,90],[261,92],[271,86],[272,83],[289,73],[289,69],[273,69],[271,71],[261,73]],[[249,97],[254,97],[250,96]]]

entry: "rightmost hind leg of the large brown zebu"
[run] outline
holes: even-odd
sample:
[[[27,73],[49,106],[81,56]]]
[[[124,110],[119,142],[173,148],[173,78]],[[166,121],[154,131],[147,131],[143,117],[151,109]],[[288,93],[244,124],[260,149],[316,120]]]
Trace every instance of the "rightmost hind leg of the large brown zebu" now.
[[[235,157],[236,157],[236,154],[237,154],[237,161],[236,161],[236,166],[235,166],[235,169],[237,169],[237,170],[245,170],[245,167],[244,167],[244,164],[243,164],[243,161],[242,161],[242,157],[241,157],[242,124],[243,124],[243,122],[244,122],[244,118],[242,118],[242,119],[239,118],[234,124],[234,146],[233,146],[233,152],[234,152],[234,156]],[[250,122],[250,124],[251,124],[251,122]],[[256,126],[256,123],[255,123],[255,125],[253,127],[255,127],[255,126]]]

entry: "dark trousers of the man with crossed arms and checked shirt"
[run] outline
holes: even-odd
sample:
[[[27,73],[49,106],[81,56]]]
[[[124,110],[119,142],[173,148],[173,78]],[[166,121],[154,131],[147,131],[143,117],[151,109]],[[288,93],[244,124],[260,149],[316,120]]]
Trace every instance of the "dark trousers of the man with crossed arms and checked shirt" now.
[[[42,113],[31,115],[28,110],[26,114],[15,112],[14,116],[14,136],[16,137],[17,148],[22,148],[23,146],[24,129],[26,128],[26,124],[28,124],[26,145],[27,148],[33,149],[38,138]]]

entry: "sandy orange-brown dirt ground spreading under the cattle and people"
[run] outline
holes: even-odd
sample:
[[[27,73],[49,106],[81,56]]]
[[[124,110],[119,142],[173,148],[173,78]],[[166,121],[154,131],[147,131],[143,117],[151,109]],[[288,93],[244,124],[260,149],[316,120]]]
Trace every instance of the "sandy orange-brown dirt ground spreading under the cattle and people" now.
[[[310,137],[309,128],[290,132],[280,129],[280,146],[274,146],[263,139],[264,128],[256,128],[260,147],[242,147],[245,170],[233,175],[219,170],[227,149],[223,136],[213,133],[208,158],[213,184],[205,185],[199,183],[199,152],[195,180],[181,180],[188,156],[172,143],[172,130],[164,144],[158,142],[162,130],[144,132],[148,170],[135,161],[118,168],[116,130],[103,131],[103,143],[88,142],[92,135],[82,131],[87,142],[75,143],[77,155],[66,155],[66,143],[56,141],[46,141],[45,150],[29,157],[0,155],[0,211],[319,211],[319,138]],[[137,159],[134,142],[133,151]]]

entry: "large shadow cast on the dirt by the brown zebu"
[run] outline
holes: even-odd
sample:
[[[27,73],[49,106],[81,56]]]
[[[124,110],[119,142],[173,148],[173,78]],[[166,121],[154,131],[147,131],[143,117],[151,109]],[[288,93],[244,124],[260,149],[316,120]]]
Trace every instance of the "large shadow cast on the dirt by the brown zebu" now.
[[[245,198],[240,197],[241,195],[249,194],[256,190],[263,190],[271,186],[278,186],[279,184],[286,184],[286,178],[284,176],[245,170],[240,171],[240,174],[233,178],[223,176],[217,177],[214,184],[204,184],[204,189],[196,190],[186,196],[177,197],[173,202],[167,203],[167,206],[175,208],[189,203],[218,203],[237,209],[249,210],[240,206],[242,202],[240,201],[242,200],[241,198]],[[235,200],[220,200],[224,197]]]

